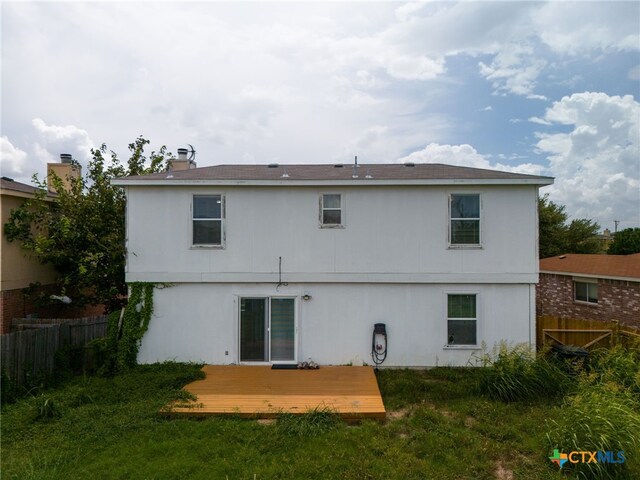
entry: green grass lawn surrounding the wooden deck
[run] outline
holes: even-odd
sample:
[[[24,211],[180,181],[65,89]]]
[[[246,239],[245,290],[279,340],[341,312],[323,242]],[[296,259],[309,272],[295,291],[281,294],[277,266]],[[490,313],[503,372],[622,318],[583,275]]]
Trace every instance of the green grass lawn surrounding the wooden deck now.
[[[76,377],[3,407],[2,478],[567,478],[545,441],[559,403],[488,400],[479,370],[380,371],[384,424],[158,415],[199,367]]]

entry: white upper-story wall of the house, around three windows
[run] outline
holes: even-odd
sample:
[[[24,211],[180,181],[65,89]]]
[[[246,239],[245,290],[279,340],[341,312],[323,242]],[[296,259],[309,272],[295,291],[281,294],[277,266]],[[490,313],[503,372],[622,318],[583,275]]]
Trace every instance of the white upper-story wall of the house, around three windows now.
[[[535,283],[535,186],[127,187],[127,281]],[[482,248],[449,248],[448,194],[480,193]],[[226,199],[226,246],[192,248],[194,194]],[[345,228],[319,228],[342,193]]]

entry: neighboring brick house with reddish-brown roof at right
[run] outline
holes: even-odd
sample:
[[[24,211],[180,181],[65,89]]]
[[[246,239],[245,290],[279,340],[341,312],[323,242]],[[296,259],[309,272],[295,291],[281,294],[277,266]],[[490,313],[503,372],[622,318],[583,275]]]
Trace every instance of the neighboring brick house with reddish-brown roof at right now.
[[[536,291],[538,315],[640,327],[640,253],[542,259]]]

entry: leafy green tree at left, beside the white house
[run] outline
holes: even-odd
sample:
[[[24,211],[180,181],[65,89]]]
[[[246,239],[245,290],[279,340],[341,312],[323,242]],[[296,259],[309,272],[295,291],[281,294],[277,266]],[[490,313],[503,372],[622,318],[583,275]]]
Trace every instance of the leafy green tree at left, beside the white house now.
[[[33,199],[14,209],[5,225],[9,241],[22,243],[26,253],[57,272],[59,290],[73,305],[104,304],[107,311],[125,302],[125,195],[111,180],[127,175],[164,171],[173,158],[162,147],[145,156],[149,140],[138,137],[129,144],[126,166],[106,145],[92,149],[85,175],[62,180],[49,178],[57,195],[46,201],[47,186],[34,175],[40,187]],[[109,159],[107,160],[107,156]],[[77,164],[76,164],[77,165]]]

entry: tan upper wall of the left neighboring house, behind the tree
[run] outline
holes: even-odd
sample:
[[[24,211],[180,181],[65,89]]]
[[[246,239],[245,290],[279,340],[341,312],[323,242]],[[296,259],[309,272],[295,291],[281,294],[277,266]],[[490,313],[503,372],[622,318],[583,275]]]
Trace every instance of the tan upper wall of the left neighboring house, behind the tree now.
[[[26,195],[31,198],[32,195]],[[2,217],[0,218],[0,236],[2,258],[0,266],[0,290],[13,290],[28,287],[31,283],[39,282],[42,285],[52,283],[55,279],[53,268],[42,265],[40,262],[24,256],[18,242],[7,241],[4,235],[4,224],[9,219],[11,210],[18,208],[25,201],[21,196],[0,196],[2,204]]]

